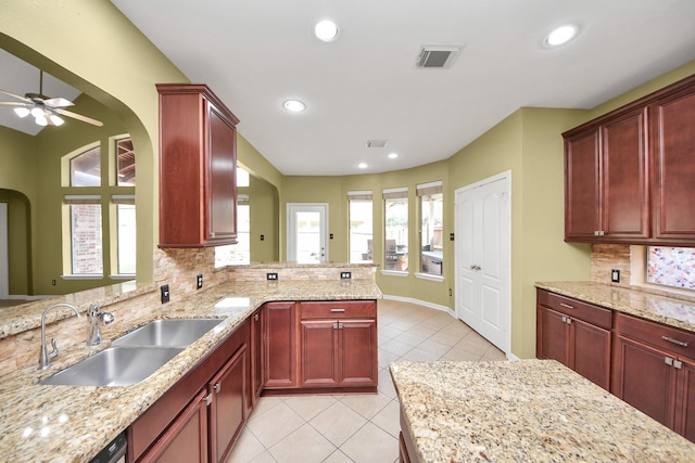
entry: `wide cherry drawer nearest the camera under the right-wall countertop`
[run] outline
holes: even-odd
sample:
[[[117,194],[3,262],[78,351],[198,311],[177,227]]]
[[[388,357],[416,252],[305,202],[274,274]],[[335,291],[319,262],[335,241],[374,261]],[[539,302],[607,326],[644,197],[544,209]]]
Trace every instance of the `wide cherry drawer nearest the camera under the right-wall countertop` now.
[[[616,332],[655,347],[695,359],[695,333],[616,313]]]

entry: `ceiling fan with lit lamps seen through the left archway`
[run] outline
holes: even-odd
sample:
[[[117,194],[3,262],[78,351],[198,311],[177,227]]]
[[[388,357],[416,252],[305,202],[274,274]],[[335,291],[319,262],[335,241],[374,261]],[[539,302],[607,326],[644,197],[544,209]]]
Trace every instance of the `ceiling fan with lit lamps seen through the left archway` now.
[[[38,93],[26,93],[24,97],[20,97],[18,94],[0,90],[0,93],[4,93],[20,100],[0,101],[0,105],[15,106],[14,112],[20,117],[26,117],[30,114],[39,126],[62,126],[65,121],[60,116],[72,117],[73,119],[81,120],[83,123],[91,124],[97,127],[103,126],[103,123],[97,119],[65,110],[65,107],[73,105],[72,101],[65,100],[64,98],[46,97],[43,94],[43,70],[39,69],[39,73]]]

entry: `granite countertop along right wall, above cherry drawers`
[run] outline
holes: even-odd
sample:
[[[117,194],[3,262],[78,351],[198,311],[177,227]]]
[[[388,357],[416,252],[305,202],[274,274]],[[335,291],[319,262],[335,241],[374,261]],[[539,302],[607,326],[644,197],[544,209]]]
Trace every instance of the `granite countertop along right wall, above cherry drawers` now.
[[[695,332],[695,303],[593,282],[541,282],[536,287]]]

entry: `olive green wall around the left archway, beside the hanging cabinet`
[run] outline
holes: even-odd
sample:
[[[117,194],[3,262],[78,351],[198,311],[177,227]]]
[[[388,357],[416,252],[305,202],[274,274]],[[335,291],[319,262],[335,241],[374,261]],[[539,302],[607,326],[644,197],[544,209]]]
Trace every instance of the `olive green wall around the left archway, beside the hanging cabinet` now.
[[[27,27],[31,25],[31,27]],[[138,153],[138,281],[153,280],[157,239],[159,104],[156,82],[188,82],[106,0],[5,0],[0,48],[109,107]]]

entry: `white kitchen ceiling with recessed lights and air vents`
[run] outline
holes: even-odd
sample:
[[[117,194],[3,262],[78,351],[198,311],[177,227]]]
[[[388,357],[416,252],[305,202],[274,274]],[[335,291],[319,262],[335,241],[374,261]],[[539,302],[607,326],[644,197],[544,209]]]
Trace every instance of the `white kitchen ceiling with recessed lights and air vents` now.
[[[207,83],[285,175],[444,159],[521,106],[591,108],[695,59],[693,0],[112,2],[191,81]],[[340,27],[330,43],[313,36],[325,17]],[[578,38],[545,48],[568,22]],[[417,69],[425,44],[464,49],[451,69]],[[307,110],[287,113],[289,98]],[[389,142],[367,149],[368,139]]]

